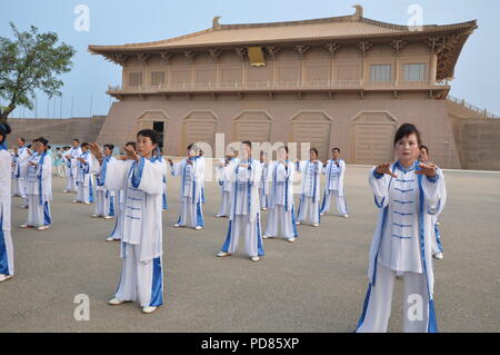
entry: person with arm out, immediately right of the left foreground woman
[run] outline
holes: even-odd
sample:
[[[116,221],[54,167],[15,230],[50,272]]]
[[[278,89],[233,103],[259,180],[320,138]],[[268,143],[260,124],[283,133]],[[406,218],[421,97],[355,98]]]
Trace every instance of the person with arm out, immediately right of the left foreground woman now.
[[[191,144],[188,146],[188,158],[173,164],[168,159],[172,176],[180,176],[180,201],[181,211],[174,227],[191,227],[197,230],[202,229],[203,205],[201,196],[201,179],[203,176],[203,165],[199,160],[199,148]]]

